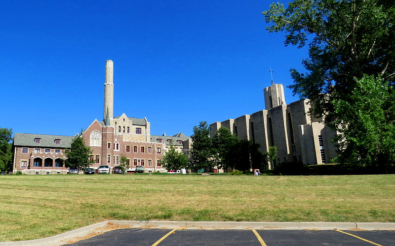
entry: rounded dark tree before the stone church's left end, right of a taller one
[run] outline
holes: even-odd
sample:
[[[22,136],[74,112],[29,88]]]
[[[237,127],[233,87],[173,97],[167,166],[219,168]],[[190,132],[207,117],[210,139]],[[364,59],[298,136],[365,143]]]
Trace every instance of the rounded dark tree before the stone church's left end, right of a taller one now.
[[[236,135],[232,134],[231,131],[226,127],[220,127],[212,137],[212,154],[213,162],[218,168],[227,169],[232,166],[229,152],[233,149],[233,146],[238,142]]]

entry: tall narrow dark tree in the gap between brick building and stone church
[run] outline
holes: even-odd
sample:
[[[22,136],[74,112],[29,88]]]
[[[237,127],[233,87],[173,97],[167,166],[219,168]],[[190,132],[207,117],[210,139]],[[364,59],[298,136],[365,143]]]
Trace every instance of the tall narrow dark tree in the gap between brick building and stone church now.
[[[207,122],[199,122],[198,126],[194,126],[194,134],[191,136],[191,139],[191,168],[194,169],[194,171],[197,171],[199,168],[204,168],[206,172],[211,172],[213,170],[214,163],[210,160],[210,126]]]

